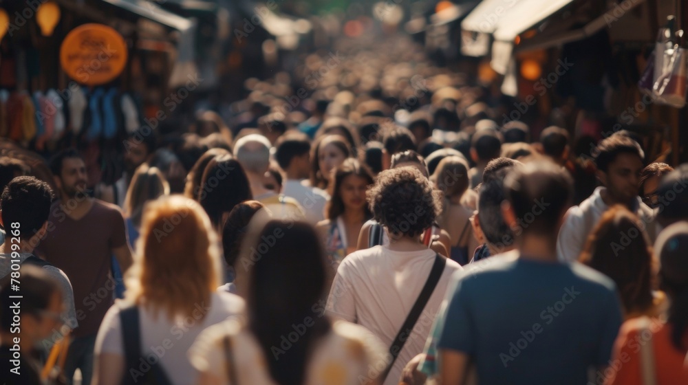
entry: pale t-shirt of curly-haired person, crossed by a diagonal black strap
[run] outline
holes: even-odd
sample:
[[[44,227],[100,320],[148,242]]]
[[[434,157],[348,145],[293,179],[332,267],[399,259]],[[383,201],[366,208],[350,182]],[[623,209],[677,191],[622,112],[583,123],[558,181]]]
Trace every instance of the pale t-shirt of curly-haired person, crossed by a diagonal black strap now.
[[[327,314],[362,325],[389,349],[416,303],[434,262],[432,250],[398,252],[378,245],[354,252],[339,265],[327,298]],[[398,384],[407,362],[422,353],[451,275],[461,268],[447,259],[440,281],[394,362],[385,385]]]

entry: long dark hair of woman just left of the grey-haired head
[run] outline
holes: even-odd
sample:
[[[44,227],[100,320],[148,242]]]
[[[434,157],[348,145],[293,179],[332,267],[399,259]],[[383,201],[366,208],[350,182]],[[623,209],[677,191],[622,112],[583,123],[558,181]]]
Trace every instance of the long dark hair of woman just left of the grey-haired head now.
[[[217,228],[222,215],[237,203],[252,199],[248,177],[242,165],[231,155],[220,155],[208,162],[201,179],[198,201]]]

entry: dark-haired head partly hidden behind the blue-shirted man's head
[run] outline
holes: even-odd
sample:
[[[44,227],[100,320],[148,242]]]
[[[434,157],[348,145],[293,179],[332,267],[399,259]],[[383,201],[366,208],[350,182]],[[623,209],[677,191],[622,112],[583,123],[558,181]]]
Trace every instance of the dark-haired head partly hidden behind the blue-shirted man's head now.
[[[501,168],[490,179],[483,181],[478,189],[477,216],[480,230],[486,243],[496,251],[506,250],[514,243],[514,234],[504,221],[502,202],[504,201],[504,177],[511,167]]]

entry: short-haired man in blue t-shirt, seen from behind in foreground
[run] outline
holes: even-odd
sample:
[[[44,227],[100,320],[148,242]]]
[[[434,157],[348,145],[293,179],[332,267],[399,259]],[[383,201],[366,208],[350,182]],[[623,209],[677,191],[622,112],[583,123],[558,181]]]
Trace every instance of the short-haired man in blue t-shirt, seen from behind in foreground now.
[[[608,364],[621,305],[612,280],[557,261],[572,180],[530,163],[504,192],[517,258],[458,273],[438,340],[440,383],[464,384],[470,363],[480,384],[585,384],[589,369]]]

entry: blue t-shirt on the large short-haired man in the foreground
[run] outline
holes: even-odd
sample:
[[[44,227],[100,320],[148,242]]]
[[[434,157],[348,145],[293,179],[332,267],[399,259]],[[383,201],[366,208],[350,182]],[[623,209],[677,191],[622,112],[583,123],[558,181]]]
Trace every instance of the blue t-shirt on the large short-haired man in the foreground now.
[[[458,278],[438,349],[467,353],[480,384],[585,384],[621,327],[614,282],[579,263],[516,259]]]

